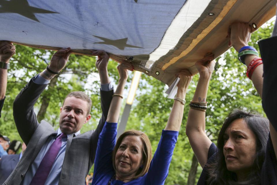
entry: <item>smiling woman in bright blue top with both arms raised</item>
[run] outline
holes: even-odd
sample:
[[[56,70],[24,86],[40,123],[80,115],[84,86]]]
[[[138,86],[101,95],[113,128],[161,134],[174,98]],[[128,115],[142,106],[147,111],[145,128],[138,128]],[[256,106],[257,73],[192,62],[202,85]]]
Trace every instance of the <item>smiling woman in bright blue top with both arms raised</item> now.
[[[192,79],[185,69],[178,75],[178,91],[162,131],[157,150],[152,157],[151,143],[141,131],[128,130],[116,142],[117,120],[121,99],[128,77],[128,62],[117,67],[119,82],[111,101],[106,123],[100,133],[94,162],[92,185],[163,185],[169,172],[169,164],[177,141],[184,113],[186,90]]]

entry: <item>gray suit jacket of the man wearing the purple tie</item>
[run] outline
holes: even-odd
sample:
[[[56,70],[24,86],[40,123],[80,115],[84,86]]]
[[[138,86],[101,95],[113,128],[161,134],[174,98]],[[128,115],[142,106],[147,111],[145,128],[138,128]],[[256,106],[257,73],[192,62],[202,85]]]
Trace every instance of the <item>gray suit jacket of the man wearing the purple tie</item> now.
[[[57,131],[46,121],[38,123],[33,110],[35,102],[46,86],[35,84],[31,79],[14,101],[14,121],[27,148],[4,185],[19,185],[48,137],[57,135]],[[100,94],[102,117],[97,129],[68,138],[59,185],[85,184],[85,177],[94,162],[98,137],[108,115],[113,90],[100,91]]]

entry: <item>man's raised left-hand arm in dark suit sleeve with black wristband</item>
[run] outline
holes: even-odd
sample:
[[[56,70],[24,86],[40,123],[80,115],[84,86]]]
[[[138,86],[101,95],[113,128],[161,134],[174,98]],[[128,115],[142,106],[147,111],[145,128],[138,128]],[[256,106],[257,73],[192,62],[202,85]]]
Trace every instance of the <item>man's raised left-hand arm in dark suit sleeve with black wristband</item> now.
[[[39,75],[33,77],[14,100],[14,121],[18,133],[26,145],[39,124],[33,106],[50,80],[65,67],[71,53],[70,48],[62,48],[57,51],[52,56],[50,65]]]

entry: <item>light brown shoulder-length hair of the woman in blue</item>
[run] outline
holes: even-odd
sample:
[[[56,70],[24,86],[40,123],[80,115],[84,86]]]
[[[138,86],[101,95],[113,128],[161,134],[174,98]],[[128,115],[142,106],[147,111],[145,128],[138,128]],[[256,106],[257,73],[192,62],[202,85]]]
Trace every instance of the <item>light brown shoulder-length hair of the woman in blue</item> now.
[[[115,154],[116,154],[117,149],[119,148],[120,144],[122,143],[122,140],[126,136],[139,136],[139,138],[141,138],[141,141],[143,143],[143,166],[142,166],[142,168],[139,168],[139,170],[136,172],[136,176],[134,177],[134,179],[137,179],[137,178],[145,175],[145,173],[147,173],[149,170],[150,162],[152,159],[151,143],[150,143],[148,136],[139,130],[127,130],[123,134],[121,134],[119,136],[119,138],[117,139],[115,148],[113,149],[113,168],[115,169],[115,171],[116,171]]]

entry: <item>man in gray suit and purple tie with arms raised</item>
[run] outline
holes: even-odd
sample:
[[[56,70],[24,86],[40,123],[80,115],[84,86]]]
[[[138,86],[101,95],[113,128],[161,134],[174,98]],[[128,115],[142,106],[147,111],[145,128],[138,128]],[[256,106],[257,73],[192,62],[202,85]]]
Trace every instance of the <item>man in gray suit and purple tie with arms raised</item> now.
[[[94,162],[98,136],[106,121],[113,95],[107,71],[107,53],[92,53],[98,56],[96,67],[101,81],[102,117],[96,130],[80,134],[81,127],[91,117],[91,100],[80,91],[72,92],[65,98],[60,109],[57,131],[44,120],[39,124],[33,110],[50,79],[68,62],[71,52],[70,48],[57,51],[52,56],[50,65],[33,77],[16,97],[13,107],[14,121],[27,149],[4,185],[85,184],[85,177]]]

